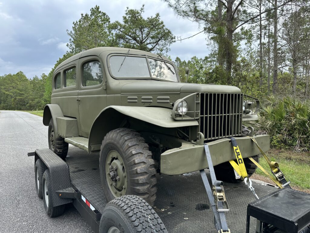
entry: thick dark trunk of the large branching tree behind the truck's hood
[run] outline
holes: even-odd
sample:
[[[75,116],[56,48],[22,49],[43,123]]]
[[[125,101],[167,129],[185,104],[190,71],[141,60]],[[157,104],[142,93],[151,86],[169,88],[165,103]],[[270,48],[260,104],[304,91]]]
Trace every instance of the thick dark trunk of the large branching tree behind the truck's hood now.
[[[233,56],[233,41],[232,41],[232,34],[233,34],[233,28],[232,28],[232,5],[233,1],[228,0],[227,1],[227,39],[228,43],[226,43],[226,72],[227,72],[227,84],[230,85],[232,83],[231,80],[231,73],[232,73],[232,56]]]

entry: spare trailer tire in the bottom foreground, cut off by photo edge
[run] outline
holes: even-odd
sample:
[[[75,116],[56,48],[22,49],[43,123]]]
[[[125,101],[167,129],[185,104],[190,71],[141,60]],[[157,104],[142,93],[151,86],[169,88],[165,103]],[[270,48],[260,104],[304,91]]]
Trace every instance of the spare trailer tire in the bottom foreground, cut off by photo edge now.
[[[167,233],[162,220],[142,198],[126,195],[110,201],[102,213],[100,233]]]

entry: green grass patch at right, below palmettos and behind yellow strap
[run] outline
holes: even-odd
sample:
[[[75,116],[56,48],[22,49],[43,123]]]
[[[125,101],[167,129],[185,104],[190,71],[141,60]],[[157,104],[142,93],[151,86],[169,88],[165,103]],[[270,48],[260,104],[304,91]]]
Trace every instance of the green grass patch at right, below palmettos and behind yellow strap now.
[[[278,162],[281,171],[291,181],[291,186],[299,190],[310,192],[310,154],[306,152],[292,152],[289,150],[271,149],[268,157]],[[259,164],[266,171],[270,171],[268,163],[262,157]],[[259,176],[267,177],[260,169],[255,172]],[[259,178],[255,176],[255,178]],[[263,179],[265,181],[265,179]],[[270,180],[270,182],[272,182]]]

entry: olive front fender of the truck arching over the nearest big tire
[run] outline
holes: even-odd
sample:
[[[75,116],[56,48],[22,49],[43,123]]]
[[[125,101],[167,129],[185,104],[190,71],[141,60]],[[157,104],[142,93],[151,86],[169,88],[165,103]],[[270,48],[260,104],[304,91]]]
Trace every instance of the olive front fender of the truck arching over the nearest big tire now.
[[[155,126],[176,128],[184,126],[197,126],[196,119],[175,121],[171,118],[171,109],[163,107],[132,107],[132,106],[108,106],[96,117],[88,140],[88,153],[100,149],[104,136],[111,130],[120,127],[126,117],[132,117],[145,121]]]

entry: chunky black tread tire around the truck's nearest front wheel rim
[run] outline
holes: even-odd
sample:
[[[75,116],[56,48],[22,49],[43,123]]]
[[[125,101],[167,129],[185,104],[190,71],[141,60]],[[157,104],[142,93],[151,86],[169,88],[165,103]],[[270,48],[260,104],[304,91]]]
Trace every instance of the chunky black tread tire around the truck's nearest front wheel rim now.
[[[110,131],[103,139],[100,148],[100,177],[107,201],[118,197],[112,194],[107,183],[108,153],[116,151],[122,157],[127,179],[124,195],[136,195],[143,198],[151,206],[156,199],[156,169],[152,153],[144,138],[135,130],[119,128]]]

